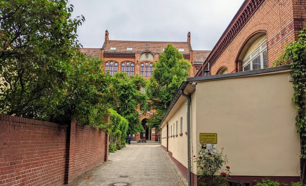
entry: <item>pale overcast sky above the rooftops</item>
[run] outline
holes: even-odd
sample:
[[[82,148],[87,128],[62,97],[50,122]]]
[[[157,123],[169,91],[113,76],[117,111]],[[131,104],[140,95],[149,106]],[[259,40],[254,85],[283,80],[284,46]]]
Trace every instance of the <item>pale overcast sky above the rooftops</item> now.
[[[83,47],[110,40],[187,41],[193,50],[211,50],[244,0],[70,0]]]

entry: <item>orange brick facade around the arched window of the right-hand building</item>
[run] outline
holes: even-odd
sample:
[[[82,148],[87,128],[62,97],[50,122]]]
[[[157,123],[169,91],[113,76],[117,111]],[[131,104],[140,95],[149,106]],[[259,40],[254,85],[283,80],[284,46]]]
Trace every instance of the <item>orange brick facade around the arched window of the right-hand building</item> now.
[[[268,65],[276,60],[286,45],[297,38],[306,18],[305,0],[264,0],[236,37],[211,66],[211,75],[221,67],[237,71],[237,60],[244,43],[258,31],[267,34]]]

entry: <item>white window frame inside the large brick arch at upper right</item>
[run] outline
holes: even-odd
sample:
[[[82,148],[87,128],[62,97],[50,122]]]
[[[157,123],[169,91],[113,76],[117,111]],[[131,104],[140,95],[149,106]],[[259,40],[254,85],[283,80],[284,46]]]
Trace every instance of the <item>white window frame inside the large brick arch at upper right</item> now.
[[[267,51],[267,40],[263,41],[258,47],[256,47],[251,54],[245,57],[242,61],[242,71],[250,64],[250,70],[253,70],[253,61],[260,56],[260,69],[264,68],[263,53]]]

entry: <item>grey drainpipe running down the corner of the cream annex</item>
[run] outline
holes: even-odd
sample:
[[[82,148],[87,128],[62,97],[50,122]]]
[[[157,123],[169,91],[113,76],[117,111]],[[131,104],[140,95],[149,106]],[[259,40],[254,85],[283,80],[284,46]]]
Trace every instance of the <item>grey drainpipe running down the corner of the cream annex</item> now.
[[[188,95],[181,90],[181,95],[187,99],[187,162],[188,162],[188,186],[191,186],[191,155],[190,155],[190,103],[191,94]]]

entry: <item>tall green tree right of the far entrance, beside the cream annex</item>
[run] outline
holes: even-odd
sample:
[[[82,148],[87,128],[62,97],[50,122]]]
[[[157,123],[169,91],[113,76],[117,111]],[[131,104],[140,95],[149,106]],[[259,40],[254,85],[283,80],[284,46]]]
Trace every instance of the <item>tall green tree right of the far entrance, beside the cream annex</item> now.
[[[153,66],[153,76],[149,81],[147,93],[151,100],[151,109],[155,112],[149,118],[148,125],[158,129],[174,94],[188,77],[191,64],[175,47],[168,45]]]

